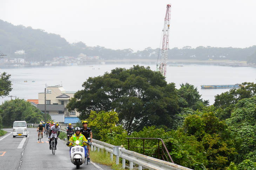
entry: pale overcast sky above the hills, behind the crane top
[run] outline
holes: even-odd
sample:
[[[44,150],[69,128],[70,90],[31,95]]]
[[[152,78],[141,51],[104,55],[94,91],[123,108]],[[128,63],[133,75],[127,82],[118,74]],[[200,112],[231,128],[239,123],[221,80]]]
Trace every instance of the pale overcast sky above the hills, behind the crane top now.
[[[1,0],[0,19],[111,49],[159,48],[171,4],[170,48],[256,45],[254,0]]]

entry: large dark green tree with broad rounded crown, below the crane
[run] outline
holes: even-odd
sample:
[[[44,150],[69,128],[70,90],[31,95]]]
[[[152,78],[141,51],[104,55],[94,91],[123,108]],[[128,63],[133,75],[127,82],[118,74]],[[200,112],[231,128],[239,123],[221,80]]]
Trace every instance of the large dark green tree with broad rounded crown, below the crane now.
[[[88,118],[91,110],[115,110],[128,134],[144,126],[171,127],[178,111],[175,84],[167,84],[159,72],[149,67],[116,68],[88,78],[82,86],[84,89],[75,93],[67,107],[81,112],[80,119]]]

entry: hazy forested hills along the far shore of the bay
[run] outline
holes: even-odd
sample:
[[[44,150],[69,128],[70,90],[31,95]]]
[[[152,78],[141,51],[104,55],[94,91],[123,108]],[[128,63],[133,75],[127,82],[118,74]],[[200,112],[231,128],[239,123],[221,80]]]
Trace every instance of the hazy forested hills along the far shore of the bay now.
[[[47,33],[41,29],[32,29],[22,25],[14,26],[11,23],[0,20],[0,51],[9,58],[15,58],[16,50],[25,50],[26,61],[46,61],[53,57],[74,56],[80,53],[87,56],[100,56],[104,59],[157,59],[159,49],[150,47],[143,51],[132,49],[112,50],[105,47],[88,47],[84,42],[68,43],[60,35]],[[168,51],[168,59],[223,59],[240,60],[248,63],[256,62],[256,45],[248,48],[218,48],[218,47],[197,47],[189,46],[182,49],[172,48]]]

